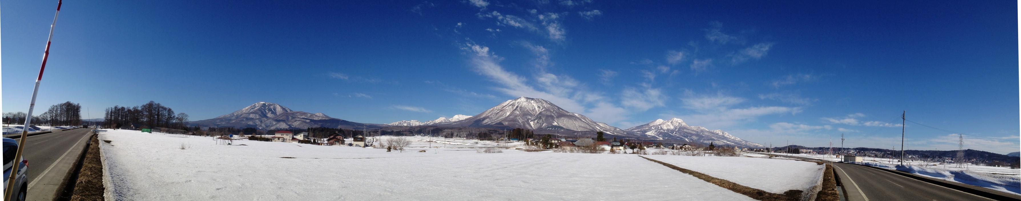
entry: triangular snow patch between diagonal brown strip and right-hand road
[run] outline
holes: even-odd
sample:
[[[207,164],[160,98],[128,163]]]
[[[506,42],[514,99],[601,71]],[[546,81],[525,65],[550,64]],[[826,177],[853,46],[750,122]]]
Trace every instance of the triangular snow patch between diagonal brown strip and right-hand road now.
[[[648,158],[677,165],[775,194],[788,190],[815,192],[822,183],[825,165],[797,160],[753,157],[643,155]]]

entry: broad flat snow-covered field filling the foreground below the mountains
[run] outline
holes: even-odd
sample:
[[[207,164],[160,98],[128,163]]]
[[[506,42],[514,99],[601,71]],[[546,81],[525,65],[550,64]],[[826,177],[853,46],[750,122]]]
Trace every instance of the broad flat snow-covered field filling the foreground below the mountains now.
[[[111,141],[100,144],[106,198],[114,200],[752,200],[633,154],[477,153],[515,145],[434,138],[432,147],[447,148],[425,148],[426,137],[410,138],[402,153],[248,140],[217,145],[207,137],[125,130],[103,130],[99,138]],[[804,170],[748,160],[758,158],[653,157],[749,186],[760,183],[729,174]],[[762,163],[727,171],[689,162]]]

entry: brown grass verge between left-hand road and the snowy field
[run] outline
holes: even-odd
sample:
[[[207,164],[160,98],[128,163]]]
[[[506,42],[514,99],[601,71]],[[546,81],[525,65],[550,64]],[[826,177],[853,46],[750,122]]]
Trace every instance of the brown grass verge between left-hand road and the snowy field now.
[[[92,143],[89,151],[85,154],[85,161],[75,183],[75,192],[70,196],[71,201],[103,200],[103,162],[100,159],[102,153],[99,151],[99,139],[92,136]],[[109,142],[107,142],[109,143]]]

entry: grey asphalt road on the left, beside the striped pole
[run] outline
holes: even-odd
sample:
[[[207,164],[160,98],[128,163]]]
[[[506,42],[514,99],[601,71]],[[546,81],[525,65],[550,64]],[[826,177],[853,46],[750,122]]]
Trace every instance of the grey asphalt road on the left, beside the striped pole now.
[[[85,149],[92,129],[53,132],[26,138],[22,157],[29,160],[26,200],[50,201]]]

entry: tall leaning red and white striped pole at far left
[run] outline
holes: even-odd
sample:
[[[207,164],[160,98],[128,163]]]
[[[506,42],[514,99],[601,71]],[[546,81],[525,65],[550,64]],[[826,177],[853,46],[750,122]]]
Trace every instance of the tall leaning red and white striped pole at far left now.
[[[53,23],[50,24],[50,37],[46,39],[46,51],[43,52],[43,65],[39,67],[39,77],[36,78],[36,88],[32,90],[32,103],[29,105],[29,114],[25,118],[25,125],[21,127],[21,138],[17,142],[17,152],[14,154],[14,165],[11,165],[10,175],[7,178],[7,188],[4,189],[4,200],[13,200],[14,183],[17,181],[17,171],[21,166],[18,159],[21,158],[21,151],[25,150],[25,139],[29,137],[29,127],[32,124],[32,111],[36,109],[36,95],[39,94],[39,82],[43,80],[43,70],[46,70],[46,59],[50,58],[50,41],[53,40],[53,28],[57,24],[57,16],[60,16],[60,5],[63,0],[57,1],[57,13],[53,15]]]

